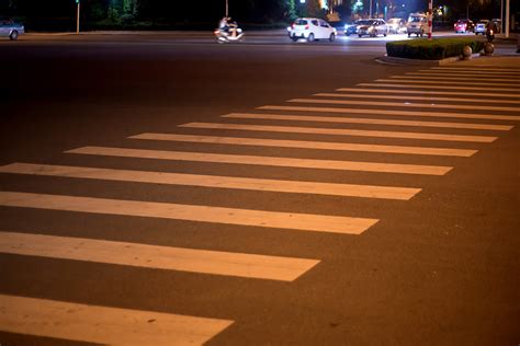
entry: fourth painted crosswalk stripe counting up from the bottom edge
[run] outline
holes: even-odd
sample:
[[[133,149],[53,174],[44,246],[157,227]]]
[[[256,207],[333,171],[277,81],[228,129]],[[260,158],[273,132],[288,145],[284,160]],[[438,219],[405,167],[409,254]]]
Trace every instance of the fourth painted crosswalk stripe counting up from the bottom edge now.
[[[408,187],[314,183],[30,163],[3,165],[0,166],[0,173],[402,200],[408,200],[420,192],[420,188]]]

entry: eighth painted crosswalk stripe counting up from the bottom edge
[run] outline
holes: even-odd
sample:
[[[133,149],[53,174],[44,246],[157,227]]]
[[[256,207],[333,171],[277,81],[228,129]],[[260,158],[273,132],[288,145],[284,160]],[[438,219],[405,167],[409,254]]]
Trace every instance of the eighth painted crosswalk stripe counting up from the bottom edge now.
[[[508,131],[511,128],[513,128],[513,126],[510,126],[510,125],[494,125],[494,124],[440,123],[440,122],[351,118],[351,117],[339,117],[339,116],[281,115],[281,114],[257,114],[257,113],[230,113],[230,114],[223,115],[221,117],[235,118],[235,119],[269,119],[269,120],[290,120],[290,122],[317,122],[317,123],[340,123],[340,124],[395,125],[395,126],[414,126],[414,127],[466,128],[466,129],[483,129],[483,130],[497,130],[497,131]]]

